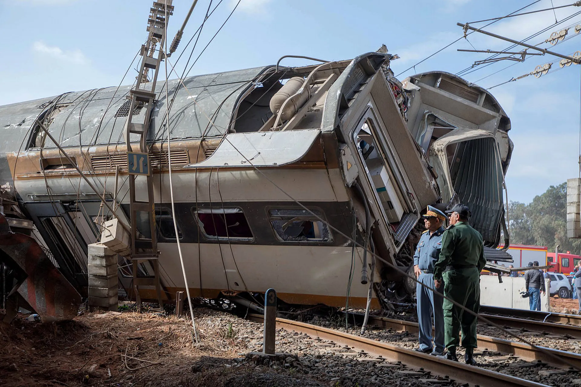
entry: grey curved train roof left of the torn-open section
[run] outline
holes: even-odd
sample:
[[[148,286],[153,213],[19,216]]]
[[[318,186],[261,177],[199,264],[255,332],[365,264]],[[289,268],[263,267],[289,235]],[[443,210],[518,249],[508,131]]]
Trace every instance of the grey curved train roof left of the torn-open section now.
[[[170,79],[168,84],[170,128],[172,139],[212,138],[228,130],[233,110],[239,97],[268,68],[264,66],[224,73],[196,75],[184,79]],[[0,128],[3,131],[0,153],[24,150],[24,140],[30,139],[30,129],[38,117],[52,109],[53,119],[48,128],[62,146],[79,146],[124,142],[129,91],[126,85],[63,93],[28,102],[0,106]],[[166,82],[156,85],[157,103],[152,111],[149,139],[166,138]],[[177,90],[177,92],[176,92]],[[145,111],[142,110],[141,114]],[[45,147],[54,147],[47,142]]]

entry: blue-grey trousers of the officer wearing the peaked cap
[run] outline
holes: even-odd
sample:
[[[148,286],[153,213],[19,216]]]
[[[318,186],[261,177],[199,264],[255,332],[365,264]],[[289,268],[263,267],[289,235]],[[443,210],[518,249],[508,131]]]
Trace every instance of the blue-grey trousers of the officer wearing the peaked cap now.
[[[434,287],[433,274],[419,274],[418,281],[429,287]],[[420,284],[415,284],[415,296],[418,302],[419,323],[419,348],[426,350],[433,348],[435,352],[444,352],[444,309],[441,292],[444,287],[440,285],[439,292],[434,294],[431,290]],[[432,313],[435,328],[434,345],[432,346]]]

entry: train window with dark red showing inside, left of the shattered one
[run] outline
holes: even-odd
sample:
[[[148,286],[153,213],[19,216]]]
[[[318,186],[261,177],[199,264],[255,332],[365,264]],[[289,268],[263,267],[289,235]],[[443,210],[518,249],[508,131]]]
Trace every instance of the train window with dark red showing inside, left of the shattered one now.
[[[248,240],[254,237],[240,208],[200,208],[194,214],[200,230],[208,239]]]

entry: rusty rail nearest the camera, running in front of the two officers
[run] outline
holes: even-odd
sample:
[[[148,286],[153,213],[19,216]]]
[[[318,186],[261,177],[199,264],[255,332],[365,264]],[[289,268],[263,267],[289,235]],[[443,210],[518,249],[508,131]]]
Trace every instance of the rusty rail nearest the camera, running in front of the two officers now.
[[[264,317],[260,314],[249,314],[248,319],[256,322],[263,321]],[[390,361],[400,361],[406,366],[424,368],[439,375],[449,375],[451,379],[472,385],[494,386],[494,387],[541,387],[546,386],[537,382],[512,377],[501,374],[500,372],[485,370],[484,368],[468,366],[458,361],[440,359],[426,353],[417,352],[410,349],[400,348],[388,343],[359,337],[332,330],[329,328],[319,327],[313,324],[301,323],[299,321],[281,319],[277,317],[277,328],[299,332],[312,337],[317,337],[342,345],[352,346],[357,349],[363,349],[372,355],[381,355]]]

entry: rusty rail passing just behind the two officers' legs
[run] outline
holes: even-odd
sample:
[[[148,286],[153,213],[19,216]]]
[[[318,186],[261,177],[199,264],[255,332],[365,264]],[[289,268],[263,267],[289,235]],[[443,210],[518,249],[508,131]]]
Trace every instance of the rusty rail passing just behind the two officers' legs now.
[[[391,328],[396,331],[417,333],[419,331],[418,323],[413,321],[394,320],[386,317],[370,317],[371,323],[382,328]],[[548,356],[546,352],[537,350],[534,346],[490,337],[486,335],[477,336],[478,348],[484,348],[503,353],[505,355],[515,355],[526,361],[542,361],[558,368],[569,368],[565,361],[558,361],[554,356]],[[581,367],[581,355],[578,353],[566,352],[560,349],[543,348],[547,352],[553,353],[558,358],[565,359],[575,366]]]

